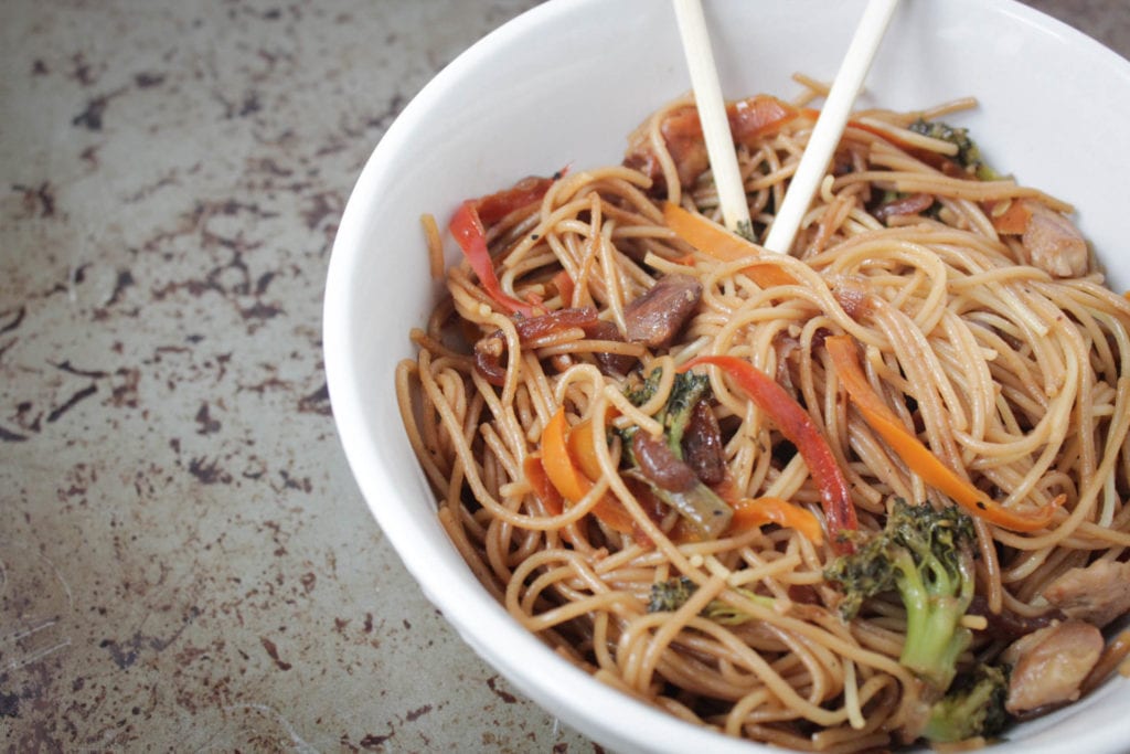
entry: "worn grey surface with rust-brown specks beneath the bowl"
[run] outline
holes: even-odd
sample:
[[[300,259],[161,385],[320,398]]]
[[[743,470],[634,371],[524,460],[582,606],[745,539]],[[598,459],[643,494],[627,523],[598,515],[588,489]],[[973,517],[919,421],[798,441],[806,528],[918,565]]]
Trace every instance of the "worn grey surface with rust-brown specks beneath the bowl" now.
[[[424,599],[338,444],[362,165],[533,0],[6,0],[6,749],[599,751]],[[1125,0],[1033,5],[1130,55]]]

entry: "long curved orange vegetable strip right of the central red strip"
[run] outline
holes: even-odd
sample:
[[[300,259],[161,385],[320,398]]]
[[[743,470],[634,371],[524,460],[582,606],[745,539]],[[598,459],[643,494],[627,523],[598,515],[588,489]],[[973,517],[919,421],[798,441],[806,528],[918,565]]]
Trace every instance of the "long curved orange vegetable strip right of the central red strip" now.
[[[1036,531],[1048,526],[1055,514],[1057,503],[1051,503],[1031,512],[1005,508],[972,483],[959,477],[937,456],[914,436],[898,416],[876,393],[862,367],[859,365],[857,347],[851,336],[837,335],[824,339],[840,383],[847,391],[868,426],[879,433],[907,467],[928,485],[948,495],[971,515],[989,523],[1014,531]]]

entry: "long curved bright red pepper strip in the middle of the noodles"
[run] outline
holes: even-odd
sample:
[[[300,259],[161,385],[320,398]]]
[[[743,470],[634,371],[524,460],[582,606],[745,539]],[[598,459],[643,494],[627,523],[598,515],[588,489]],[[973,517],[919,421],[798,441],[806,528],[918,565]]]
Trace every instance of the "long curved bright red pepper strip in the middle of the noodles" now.
[[[784,388],[747,361],[736,356],[698,356],[684,364],[681,370],[699,364],[721,369],[765,411],[781,434],[797,447],[820,491],[833,549],[837,553],[851,552],[851,541],[842,535],[859,528],[855,508],[851,502],[847,480],[812,417]]]

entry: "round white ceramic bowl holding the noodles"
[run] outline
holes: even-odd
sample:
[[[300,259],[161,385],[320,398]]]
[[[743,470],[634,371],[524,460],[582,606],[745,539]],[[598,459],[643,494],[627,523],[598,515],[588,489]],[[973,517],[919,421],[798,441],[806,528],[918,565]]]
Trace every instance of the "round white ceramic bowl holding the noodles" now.
[[[862,0],[706,0],[728,97],[792,96],[794,71],[831,80]],[[554,0],[473,45],[428,84],[376,146],[330,262],[324,343],[338,430],[360,489],[428,598],[516,687],[620,752],[768,751],[635,702],[556,657],[476,582],[435,518],[402,431],[395,363],[438,293],[421,213],[563,165],[619,162],[626,135],[689,89],[670,3]],[[960,96],[990,163],[1079,208],[1110,271],[1130,284],[1125,187],[1130,63],[1010,0],[904,0],[861,105],[915,109]],[[449,245],[449,258],[458,251]],[[1125,752],[1130,682],[1014,730],[994,752]]]

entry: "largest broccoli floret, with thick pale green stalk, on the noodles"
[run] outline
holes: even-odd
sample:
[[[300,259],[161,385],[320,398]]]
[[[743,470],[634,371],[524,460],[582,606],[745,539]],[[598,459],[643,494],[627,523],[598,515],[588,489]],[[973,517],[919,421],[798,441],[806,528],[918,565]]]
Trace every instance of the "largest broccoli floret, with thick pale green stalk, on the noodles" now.
[[[949,687],[972,634],[960,625],[973,600],[973,521],[958,508],[895,500],[881,532],[827,567],[851,619],[868,597],[896,590],[906,608],[899,662],[933,688]]]

